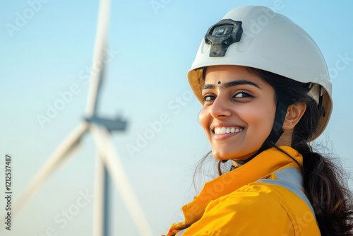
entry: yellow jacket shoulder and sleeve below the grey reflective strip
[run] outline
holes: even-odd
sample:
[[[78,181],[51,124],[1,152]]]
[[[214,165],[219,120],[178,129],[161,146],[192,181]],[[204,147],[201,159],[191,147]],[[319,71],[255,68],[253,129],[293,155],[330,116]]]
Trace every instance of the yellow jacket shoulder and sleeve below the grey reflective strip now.
[[[184,235],[320,235],[320,231],[299,196],[282,186],[255,182],[211,201]]]

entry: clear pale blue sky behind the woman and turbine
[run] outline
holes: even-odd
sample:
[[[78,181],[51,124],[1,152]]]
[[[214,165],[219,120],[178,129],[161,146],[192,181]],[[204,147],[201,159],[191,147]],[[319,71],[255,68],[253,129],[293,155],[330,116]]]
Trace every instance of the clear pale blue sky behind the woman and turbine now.
[[[99,112],[128,121],[124,133],[112,136],[153,235],[183,220],[180,208],[196,194],[191,187],[194,167],[210,151],[198,122],[201,105],[192,96],[186,73],[210,25],[244,5],[271,7],[316,40],[330,69],[334,101],[332,118],[318,144],[352,172],[352,1],[112,1],[109,62]],[[5,191],[7,153],[13,156],[15,203],[83,119],[97,6],[98,1],[81,0],[0,3],[0,191]],[[52,111],[65,95],[61,110]],[[38,117],[47,112],[50,122],[40,122]],[[152,124],[160,119],[164,124],[153,130]],[[141,136],[149,130],[149,140],[143,141]],[[138,145],[138,150],[129,151]],[[95,143],[88,134],[71,162],[54,172],[13,220],[13,230],[0,234],[40,236],[54,230],[57,235],[90,235],[92,199],[66,223],[57,219],[64,219],[63,212],[80,194],[93,193],[94,164]],[[4,207],[1,198],[1,214]],[[111,208],[114,235],[139,235],[116,189]],[[0,225],[4,230],[1,220]]]

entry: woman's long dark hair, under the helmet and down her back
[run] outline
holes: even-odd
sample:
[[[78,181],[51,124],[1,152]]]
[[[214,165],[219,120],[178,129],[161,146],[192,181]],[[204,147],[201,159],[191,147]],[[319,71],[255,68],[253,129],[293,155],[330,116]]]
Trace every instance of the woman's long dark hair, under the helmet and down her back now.
[[[288,105],[296,102],[306,103],[306,111],[294,127],[291,145],[303,155],[303,166],[299,167],[303,172],[304,190],[315,211],[321,235],[353,235],[352,192],[345,187],[343,173],[332,160],[314,152],[308,144],[317,129],[318,120],[323,115],[323,110],[319,110],[316,101],[308,95],[308,84],[261,69],[246,69],[271,85],[275,89],[277,100],[287,102]],[[266,144],[292,158],[275,143]],[[221,165],[222,162],[219,161],[219,175],[222,175]]]

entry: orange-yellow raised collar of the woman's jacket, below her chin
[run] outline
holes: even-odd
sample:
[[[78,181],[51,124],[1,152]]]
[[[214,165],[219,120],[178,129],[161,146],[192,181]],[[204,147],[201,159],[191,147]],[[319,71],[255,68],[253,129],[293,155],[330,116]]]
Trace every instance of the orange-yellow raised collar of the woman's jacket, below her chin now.
[[[300,165],[303,165],[303,157],[296,150],[289,146],[280,146],[280,148],[297,160]],[[256,157],[250,160],[249,163],[246,163],[246,165],[242,165],[235,170],[205,183],[200,194],[198,194],[191,203],[181,208],[184,213],[185,221],[172,225],[169,233],[189,227],[199,220],[203,216],[205,208],[210,201],[220,196],[230,194],[246,184],[256,182],[258,179],[267,178],[271,173],[285,167],[295,167],[300,171],[298,165],[292,158],[289,158],[288,155],[278,151],[276,148],[270,148],[256,155]]]

